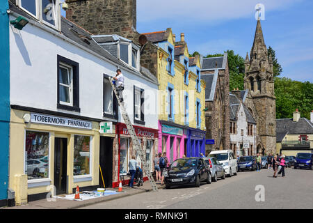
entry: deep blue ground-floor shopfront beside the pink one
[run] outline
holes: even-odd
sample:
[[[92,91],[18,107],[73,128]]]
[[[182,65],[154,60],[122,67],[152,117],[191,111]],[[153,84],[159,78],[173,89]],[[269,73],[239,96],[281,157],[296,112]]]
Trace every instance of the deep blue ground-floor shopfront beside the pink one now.
[[[205,132],[188,128],[186,157],[200,157],[200,153],[205,155]]]

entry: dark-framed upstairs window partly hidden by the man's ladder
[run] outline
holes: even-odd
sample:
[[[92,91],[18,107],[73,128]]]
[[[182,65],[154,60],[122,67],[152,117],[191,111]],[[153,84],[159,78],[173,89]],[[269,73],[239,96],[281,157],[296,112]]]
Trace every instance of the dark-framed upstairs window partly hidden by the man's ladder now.
[[[113,93],[108,75],[104,75],[103,81],[103,116],[118,119],[118,101]]]

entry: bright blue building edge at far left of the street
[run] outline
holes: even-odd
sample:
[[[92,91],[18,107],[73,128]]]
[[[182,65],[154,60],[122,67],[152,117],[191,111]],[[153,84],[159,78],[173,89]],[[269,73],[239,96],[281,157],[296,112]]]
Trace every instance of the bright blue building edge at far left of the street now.
[[[8,1],[0,1],[0,206],[8,199],[8,151],[10,125],[10,53]]]

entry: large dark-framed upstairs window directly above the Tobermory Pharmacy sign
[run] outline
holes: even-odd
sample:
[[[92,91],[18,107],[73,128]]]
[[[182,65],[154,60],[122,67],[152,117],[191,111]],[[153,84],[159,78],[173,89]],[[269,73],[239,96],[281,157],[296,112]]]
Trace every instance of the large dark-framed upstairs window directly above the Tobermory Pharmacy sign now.
[[[58,109],[80,112],[79,63],[58,55]]]

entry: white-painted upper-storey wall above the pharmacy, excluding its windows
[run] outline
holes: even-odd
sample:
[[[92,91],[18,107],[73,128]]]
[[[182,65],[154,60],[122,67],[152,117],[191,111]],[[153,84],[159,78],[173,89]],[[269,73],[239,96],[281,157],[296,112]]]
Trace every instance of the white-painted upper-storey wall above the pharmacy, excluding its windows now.
[[[11,20],[15,19],[11,16]],[[79,63],[81,112],[57,109],[57,55]],[[10,104],[103,119],[103,74],[117,66],[33,24],[15,33],[10,27]],[[157,84],[121,68],[125,104],[134,121],[134,85],[145,89],[145,127],[157,129]],[[120,113],[120,112],[119,112]],[[124,122],[119,114],[120,122]]]

